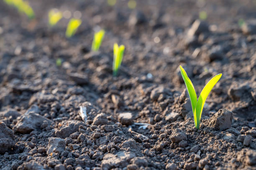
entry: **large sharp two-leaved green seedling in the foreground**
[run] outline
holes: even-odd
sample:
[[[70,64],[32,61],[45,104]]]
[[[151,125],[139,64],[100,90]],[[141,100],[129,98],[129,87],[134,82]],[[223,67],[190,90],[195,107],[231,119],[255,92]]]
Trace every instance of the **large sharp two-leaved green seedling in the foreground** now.
[[[186,84],[187,91],[189,93],[189,98],[191,101],[192,110],[193,110],[193,114],[194,114],[195,127],[197,129],[199,129],[201,115],[202,115],[202,109],[204,107],[205,100],[206,100],[208,94],[210,93],[210,91],[212,90],[213,86],[219,81],[222,74],[217,74],[212,79],[210,79],[210,81],[202,89],[201,94],[197,100],[197,94],[195,92],[194,86],[193,86],[192,82],[190,81],[190,79],[188,78],[186,71],[182,68],[182,66],[179,66],[179,69],[182,74],[182,78],[184,79],[184,82]]]

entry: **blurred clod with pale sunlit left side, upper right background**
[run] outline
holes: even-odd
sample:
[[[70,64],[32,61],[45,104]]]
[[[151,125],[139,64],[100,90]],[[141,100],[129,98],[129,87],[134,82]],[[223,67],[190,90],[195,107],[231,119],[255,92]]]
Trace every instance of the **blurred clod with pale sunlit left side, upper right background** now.
[[[209,25],[201,20],[195,20],[192,24],[191,28],[188,30],[187,35],[192,36],[199,36],[200,33],[209,32]]]

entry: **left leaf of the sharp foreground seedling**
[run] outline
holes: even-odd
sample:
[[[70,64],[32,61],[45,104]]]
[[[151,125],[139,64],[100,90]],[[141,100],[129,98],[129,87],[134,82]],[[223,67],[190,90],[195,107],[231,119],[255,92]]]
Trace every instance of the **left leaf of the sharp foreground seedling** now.
[[[182,78],[183,78],[183,80],[186,84],[187,91],[189,93],[189,98],[190,98],[191,105],[192,105],[193,114],[194,114],[195,107],[197,105],[197,94],[195,92],[195,88],[194,88],[191,80],[187,76],[186,71],[182,68],[182,66],[179,66],[179,69],[180,69],[180,72],[182,74]]]

